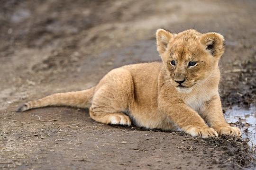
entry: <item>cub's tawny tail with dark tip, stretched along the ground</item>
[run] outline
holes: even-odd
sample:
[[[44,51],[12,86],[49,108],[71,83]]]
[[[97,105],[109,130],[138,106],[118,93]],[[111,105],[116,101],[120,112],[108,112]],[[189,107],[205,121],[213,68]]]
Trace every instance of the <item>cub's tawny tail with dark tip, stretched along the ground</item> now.
[[[94,87],[76,92],[55,93],[36,101],[27,102],[19,106],[16,111],[26,111],[46,106],[73,106],[86,108],[90,106],[93,94]]]

